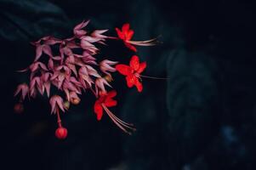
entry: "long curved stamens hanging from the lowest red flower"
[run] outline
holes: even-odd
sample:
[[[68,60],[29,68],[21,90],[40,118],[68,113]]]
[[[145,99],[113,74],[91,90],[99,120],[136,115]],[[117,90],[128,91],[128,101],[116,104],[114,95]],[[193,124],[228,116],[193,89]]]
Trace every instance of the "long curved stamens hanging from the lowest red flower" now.
[[[102,104],[102,107],[104,108],[104,110],[108,114],[108,116],[110,116],[111,120],[117,125],[117,127],[120,127],[123,132],[128,133],[130,135],[132,134],[132,133],[128,132],[128,130],[125,129],[124,127],[127,127],[128,129],[131,129],[133,131],[136,130],[136,128],[133,127],[134,126],[133,124],[129,124],[127,122],[122,122],[119,118],[117,118],[117,116],[115,116],[111,111],[109,111],[104,104]]]

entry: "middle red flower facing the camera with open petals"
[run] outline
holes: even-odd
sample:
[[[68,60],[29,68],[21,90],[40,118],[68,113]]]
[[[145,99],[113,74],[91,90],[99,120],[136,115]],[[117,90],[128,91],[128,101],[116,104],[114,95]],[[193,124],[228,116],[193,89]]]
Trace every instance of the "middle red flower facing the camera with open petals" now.
[[[145,70],[146,63],[139,63],[139,57],[134,55],[129,65],[116,65],[116,70],[122,75],[126,76],[128,88],[136,86],[139,92],[142,91],[143,86],[140,80],[140,73]]]

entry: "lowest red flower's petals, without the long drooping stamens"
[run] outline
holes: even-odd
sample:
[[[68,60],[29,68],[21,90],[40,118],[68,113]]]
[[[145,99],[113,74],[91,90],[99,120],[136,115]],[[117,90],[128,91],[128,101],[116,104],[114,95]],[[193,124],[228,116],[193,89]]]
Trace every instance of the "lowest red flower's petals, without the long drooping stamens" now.
[[[112,90],[111,92],[107,94],[100,94],[100,98],[96,100],[94,104],[94,112],[97,115],[97,120],[100,121],[102,115],[103,115],[103,107],[112,107],[117,105],[117,100],[112,99],[117,95],[117,92],[115,90]],[[103,106],[104,105],[104,106]]]

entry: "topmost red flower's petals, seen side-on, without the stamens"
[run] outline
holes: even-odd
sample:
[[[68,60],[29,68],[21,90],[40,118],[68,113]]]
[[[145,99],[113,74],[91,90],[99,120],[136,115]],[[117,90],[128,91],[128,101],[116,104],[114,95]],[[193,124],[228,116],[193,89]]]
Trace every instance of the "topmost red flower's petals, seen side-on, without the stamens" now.
[[[116,28],[116,31],[117,31],[117,36],[120,39],[122,39],[126,47],[130,48],[134,52],[137,52],[137,49],[133,45],[131,45],[131,43],[129,42],[134,36],[134,31],[130,29],[130,24],[126,23],[122,25],[122,31],[119,30],[119,28]]]

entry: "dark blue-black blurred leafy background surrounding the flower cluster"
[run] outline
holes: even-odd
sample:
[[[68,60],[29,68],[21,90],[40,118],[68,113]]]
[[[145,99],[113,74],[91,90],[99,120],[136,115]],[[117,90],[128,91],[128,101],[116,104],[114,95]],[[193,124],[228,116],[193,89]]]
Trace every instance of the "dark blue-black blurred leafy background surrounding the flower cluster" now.
[[[255,169],[254,13],[253,3],[234,0],[0,0],[0,169]],[[89,29],[110,35],[129,22],[134,40],[161,34],[161,45],[138,54],[146,75],[169,79],[144,79],[139,94],[117,78],[111,111],[134,122],[132,136],[107,116],[97,122],[87,93],[62,115],[69,136],[60,141],[47,98],[14,113],[14,89],[27,80],[15,71],[34,58],[29,42],[70,37],[88,19]],[[107,58],[128,62],[133,53],[109,43]]]

